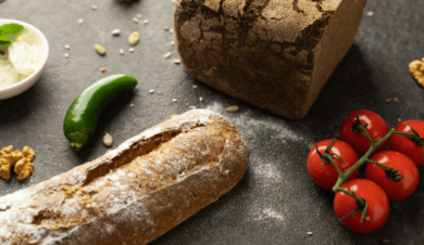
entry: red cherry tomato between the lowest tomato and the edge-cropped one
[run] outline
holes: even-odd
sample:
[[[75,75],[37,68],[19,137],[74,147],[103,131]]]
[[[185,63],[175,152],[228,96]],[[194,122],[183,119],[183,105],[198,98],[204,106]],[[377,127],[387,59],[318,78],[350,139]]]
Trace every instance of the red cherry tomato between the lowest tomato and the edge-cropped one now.
[[[399,175],[402,176],[402,181],[395,182],[386,176],[386,171],[379,166],[367,163],[365,178],[378,184],[386,192],[389,199],[404,199],[415,191],[419,185],[420,173],[414,162],[407,155],[395,151],[384,151],[377,153],[371,159],[397,169]]]

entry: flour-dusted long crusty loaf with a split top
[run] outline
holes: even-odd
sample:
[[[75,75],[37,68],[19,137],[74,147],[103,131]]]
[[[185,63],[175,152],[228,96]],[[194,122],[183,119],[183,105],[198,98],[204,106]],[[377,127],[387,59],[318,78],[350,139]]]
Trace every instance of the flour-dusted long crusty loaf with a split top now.
[[[224,117],[190,111],[93,162],[0,197],[0,243],[147,244],[228,192],[249,154]]]

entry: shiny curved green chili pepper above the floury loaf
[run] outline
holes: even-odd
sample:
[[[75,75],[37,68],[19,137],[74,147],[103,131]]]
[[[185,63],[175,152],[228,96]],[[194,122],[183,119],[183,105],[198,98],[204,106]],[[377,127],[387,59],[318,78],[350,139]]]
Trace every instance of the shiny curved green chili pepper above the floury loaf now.
[[[98,119],[108,105],[136,86],[134,77],[115,74],[96,81],[74,100],[63,124],[63,131],[74,151],[79,151],[95,134]]]

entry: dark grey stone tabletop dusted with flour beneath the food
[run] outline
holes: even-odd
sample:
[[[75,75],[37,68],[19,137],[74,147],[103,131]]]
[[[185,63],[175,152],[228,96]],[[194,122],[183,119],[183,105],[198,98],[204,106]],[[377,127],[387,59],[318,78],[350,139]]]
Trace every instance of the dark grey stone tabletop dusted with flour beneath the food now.
[[[97,4],[98,11],[92,11],[91,4]],[[424,56],[423,9],[424,1],[370,1],[354,44],[311,112],[302,120],[287,120],[203,86],[183,66],[173,64],[177,57],[170,46],[173,36],[163,30],[163,26],[172,26],[171,0],[134,4],[5,0],[0,3],[0,16],[41,29],[50,43],[50,56],[32,89],[0,101],[0,146],[29,145],[37,154],[33,176],[25,181],[15,175],[10,181],[0,180],[0,195],[101,156],[108,150],[101,143],[105,132],[114,137],[117,146],[195,105],[220,112],[237,126],[251,149],[250,166],[233,191],[152,244],[379,244],[382,238],[389,238],[390,244],[423,244],[423,181],[409,198],[390,202],[389,218],[379,230],[358,234],[338,221],[333,211],[334,194],[316,186],[305,168],[309,143],[338,137],[341,119],[353,109],[377,112],[390,127],[398,118],[424,119],[423,90],[408,70],[411,61]],[[369,11],[374,16],[367,16]],[[138,13],[150,23],[133,23]],[[78,18],[84,20],[83,25]],[[121,29],[121,37],[111,36],[114,28]],[[133,30],[140,31],[141,40],[135,52],[128,53],[127,36]],[[107,48],[104,57],[93,51],[97,42]],[[125,49],[125,55],[119,54],[120,48]],[[163,59],[169,51],[172,57]],[[70,59],[64,59],[65,52]],[[108,67],[108,72],[100,73],[100,67]],[[84,88],[113,73],[134,75],[140,83],[110,108],[92,143],[76,154],[62,132],[64,114]],[[194,85],[199,88],[192,89]],[[150,89],[154,89],[153,94],[149,94]],[[199,96],[204,98],[203,103]],[[399,103],[385,102],[395,96]],[[172,103],[174,98],[178,103]],[[224,112],[235,104],[239,112]],[[420,173],[424,173],[423,168]],[[309,231],[314,234],[308,236]]]

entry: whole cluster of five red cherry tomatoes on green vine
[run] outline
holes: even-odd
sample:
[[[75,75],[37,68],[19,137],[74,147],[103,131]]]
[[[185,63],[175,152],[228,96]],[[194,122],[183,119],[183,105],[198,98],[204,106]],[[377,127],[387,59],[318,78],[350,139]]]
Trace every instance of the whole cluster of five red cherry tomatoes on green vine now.
[[[371,153],[371,140],[377,143],[388,133],[392,136],[378,147],[373,146]],[[372,232],[387,220],[389,199],[404,199],[419,185],[417,166],[424,166],[424,139],[421,137],[424,138],[424,121],[402,121],[392,132],[378,114],[354,111],[341,122],[341,140],[324,140],[312,147],[308,172],[317,185],[333,190],[339,180],[336,165],[340,175],[346,176],[334,190],[337,217],[352,231]],[[391,150],[385,151],[388,144]],[[366,163],[365,179],[356,179],[361,163]],[[352,166],[356,170],[348,177],[344,175]]]

